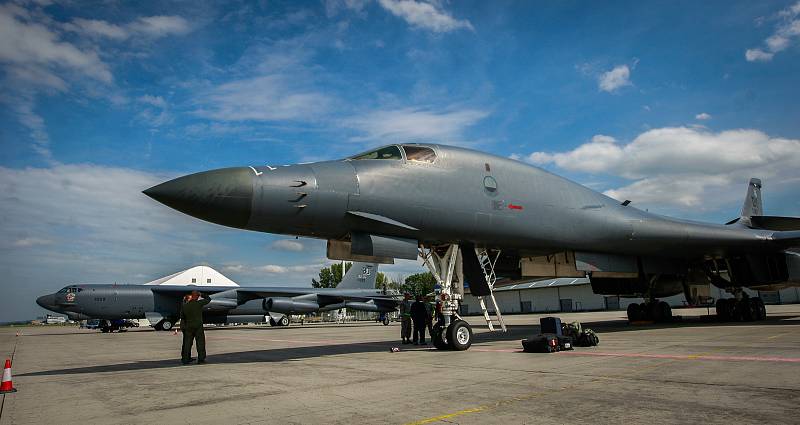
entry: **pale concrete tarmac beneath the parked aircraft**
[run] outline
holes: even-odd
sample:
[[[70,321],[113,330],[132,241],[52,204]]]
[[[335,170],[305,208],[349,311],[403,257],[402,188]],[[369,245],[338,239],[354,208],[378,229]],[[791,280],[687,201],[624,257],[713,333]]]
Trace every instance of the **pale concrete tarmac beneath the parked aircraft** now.
[[[194,366],[172,332],[0,328],[19,390],[0,425],[800,423],[800,305],[767,309],[735,324],[705,309],[641,326],[558,314],[600,345],[555,354],[521,352],[542,315],[506,316],[509,334],[470,317],[466,352],[400,345],[397,323],[208,328],[209,363]]]

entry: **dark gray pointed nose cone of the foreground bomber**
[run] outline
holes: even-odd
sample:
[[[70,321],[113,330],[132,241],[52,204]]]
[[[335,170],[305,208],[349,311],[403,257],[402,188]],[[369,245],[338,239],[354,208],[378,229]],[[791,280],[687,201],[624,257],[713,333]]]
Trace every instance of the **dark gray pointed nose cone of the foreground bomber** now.
[[[162,204],[201,220],[244,228],[253,202],[253,171],[222,168],[190,174],[143,192]]]

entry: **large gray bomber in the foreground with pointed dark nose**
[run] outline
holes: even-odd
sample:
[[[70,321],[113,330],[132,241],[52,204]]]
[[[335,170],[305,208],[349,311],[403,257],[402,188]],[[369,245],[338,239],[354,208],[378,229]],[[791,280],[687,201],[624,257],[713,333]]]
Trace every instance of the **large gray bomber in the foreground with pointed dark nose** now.
[[[205,171],[144,193],[212,223],[327,239],[331,259],[421,256],[442,288],[438,348],[472,342],[458,316],[465,282],[490,329],[484,299],[494,302],[495,283],[536,276],[588,276],[595,293],[644,297],[630,320],[670,318],[659,297],[691,300],[708,282],[735,295],[717,302],[721,319],[763,319],[763,302],[742,288],[800,285],[800,218],[763,215],[758,179],[725,225],[652,214],[520,161],[435,144]]]

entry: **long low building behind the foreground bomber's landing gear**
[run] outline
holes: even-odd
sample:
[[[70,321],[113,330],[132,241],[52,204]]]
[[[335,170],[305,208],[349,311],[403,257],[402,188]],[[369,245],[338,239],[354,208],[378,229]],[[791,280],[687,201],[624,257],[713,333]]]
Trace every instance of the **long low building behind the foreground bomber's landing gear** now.
[[[705,291],[701,291],[705,292]],[[800,302],[798,288],[786,288],[781,291],[751,291],[745,288],[750,296],[759,296],[766,304],[792,304]],[[534,280],[510,286],[495,288],[495,298],[500,312],[507,313],[545,313],[571,311],[625,310],[630,303],[641,303],[641,298],[620,298],[616,296],[598,295],[592,292],[592,285],[586,278],[556,278]],[[708,285],[708,292],[701,293],[713,298],[731,298],[732,295]],[[686,306],[683,294],[662,298],[673,308]],[[712,305],[713,305],[712,301]],[[494,310],[487,303],[489,310]],[[462,314],[481,314],[478,299],[469,293],[464,296],[461,305]]]

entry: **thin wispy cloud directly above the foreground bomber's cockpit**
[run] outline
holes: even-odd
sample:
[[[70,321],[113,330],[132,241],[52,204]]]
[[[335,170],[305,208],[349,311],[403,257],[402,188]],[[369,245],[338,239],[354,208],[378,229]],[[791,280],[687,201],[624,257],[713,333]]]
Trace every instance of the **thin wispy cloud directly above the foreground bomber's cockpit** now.
[[[345,127],[364,133],[364,139],[392,141],[454,141],[464,130],[489,115],[478,109],[431,111],[404,108],[378,110],[345,120]]]

